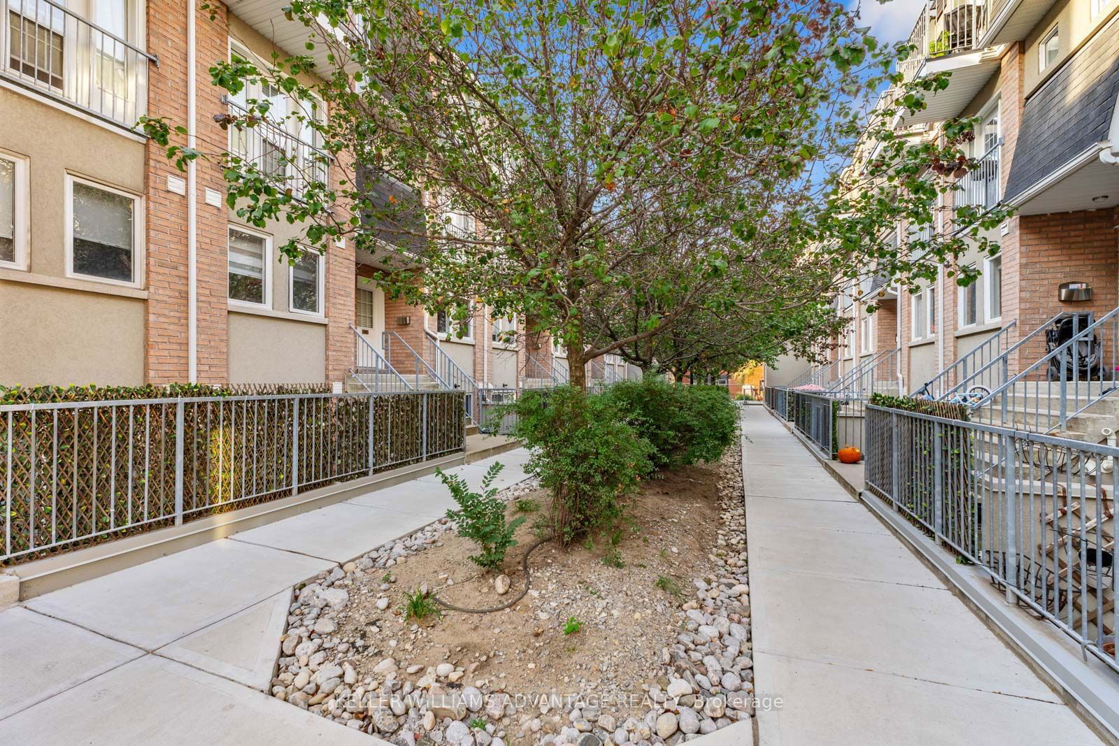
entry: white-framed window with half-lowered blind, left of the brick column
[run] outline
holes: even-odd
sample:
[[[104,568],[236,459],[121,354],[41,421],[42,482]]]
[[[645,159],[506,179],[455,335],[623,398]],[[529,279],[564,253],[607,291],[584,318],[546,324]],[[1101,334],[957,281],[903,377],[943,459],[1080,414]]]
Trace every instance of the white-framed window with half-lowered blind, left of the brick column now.
[[[138,195],[66,174],[66,275],[143,284],[143,201]]]

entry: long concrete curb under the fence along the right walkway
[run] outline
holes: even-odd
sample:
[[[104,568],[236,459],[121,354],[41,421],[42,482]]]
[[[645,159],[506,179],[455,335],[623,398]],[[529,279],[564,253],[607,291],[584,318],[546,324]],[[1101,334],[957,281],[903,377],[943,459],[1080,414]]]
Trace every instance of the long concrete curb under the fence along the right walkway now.
[[[772,415],[772,413],[771,413]],[[1031,618],[1008,605],[976,565],[958,565],[952,555],[876,495],[847,482],[830,461],[808,441],[775,417],[824,466],[840,487],[862,502],[924,565],[943,580],[988,627],[1006,643],[1100,738],[1119,744],[1119,677],[1091,655],[1081,655],[1071,639],[1052,624]],[[749,517],[747,517],[749,518]]]

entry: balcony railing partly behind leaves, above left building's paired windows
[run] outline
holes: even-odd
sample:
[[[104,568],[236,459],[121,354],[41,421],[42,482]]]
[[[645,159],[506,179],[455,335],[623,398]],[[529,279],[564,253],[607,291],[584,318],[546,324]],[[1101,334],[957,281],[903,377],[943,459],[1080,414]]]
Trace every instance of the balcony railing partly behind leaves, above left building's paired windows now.
[[[247,116],[248,111],[226,98],[229,113]],[[229,154],[255,166],[262,173],[302,198],[308,185],[327,183],[330,153],[300,140],[275,122],[248,117],[243,128],[229,126]]]

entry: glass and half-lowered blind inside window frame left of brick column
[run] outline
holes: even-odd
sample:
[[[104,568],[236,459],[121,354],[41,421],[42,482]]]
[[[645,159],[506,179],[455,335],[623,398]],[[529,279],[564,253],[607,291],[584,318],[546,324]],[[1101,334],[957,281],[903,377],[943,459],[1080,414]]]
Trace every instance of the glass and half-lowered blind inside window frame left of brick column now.
[[[132,282],[134,200],[74,182],[74,272]]]

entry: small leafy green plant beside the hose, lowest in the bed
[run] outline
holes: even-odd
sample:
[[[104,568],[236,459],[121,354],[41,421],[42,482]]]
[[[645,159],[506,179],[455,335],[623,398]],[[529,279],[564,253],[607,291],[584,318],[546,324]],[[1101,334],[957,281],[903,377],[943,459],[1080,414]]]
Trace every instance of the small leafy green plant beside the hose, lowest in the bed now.
[[[501,469],[499,463],[489,468],[482,478],[480,493],[471,492],[461,476],[435,470],[459,506],[458,510],[448,510],[446,517],[454,523],[459,536],[478,545],[479,553],[471,555],[470,559],[486,570],[501,567],[505,554],[510,547],[517,546],[514,532],[525,522],[524,516],[506,520],[505,502],[497,498],[498,490],[492,487]]]

